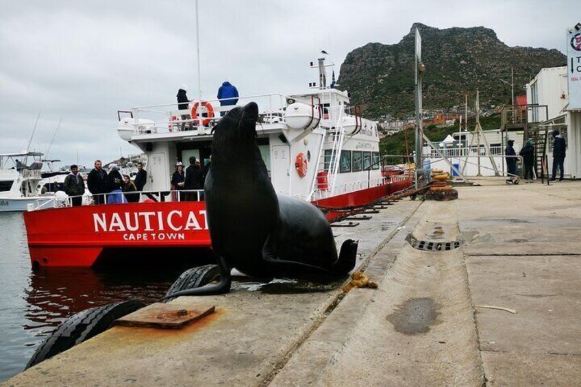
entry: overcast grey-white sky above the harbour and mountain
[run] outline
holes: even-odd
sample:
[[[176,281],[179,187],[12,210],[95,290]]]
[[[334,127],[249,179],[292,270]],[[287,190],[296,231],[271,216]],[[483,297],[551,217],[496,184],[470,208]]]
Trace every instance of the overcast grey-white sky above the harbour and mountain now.
[[[292,93],[317,80],[325,49],[336,74],[349,51],[394,44],[415,22],[484,26],[509,46],[565,53],[578,1],[199,0],[201,90],[228,80],[240,95]],[[0,0],[0,153],[26,149],[92,166],[138,153],[116,134],[116,111],[197,95],[195,1]]]

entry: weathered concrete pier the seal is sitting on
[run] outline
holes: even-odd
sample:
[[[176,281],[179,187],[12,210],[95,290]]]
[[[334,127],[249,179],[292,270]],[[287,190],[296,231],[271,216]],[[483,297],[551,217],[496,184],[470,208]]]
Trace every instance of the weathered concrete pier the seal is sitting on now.
[[[216,305],[189,327],[113,327],[3,386],[579,385],[581,182],[480,184],[334,229],[376,290],[242,278],[172,301]]]

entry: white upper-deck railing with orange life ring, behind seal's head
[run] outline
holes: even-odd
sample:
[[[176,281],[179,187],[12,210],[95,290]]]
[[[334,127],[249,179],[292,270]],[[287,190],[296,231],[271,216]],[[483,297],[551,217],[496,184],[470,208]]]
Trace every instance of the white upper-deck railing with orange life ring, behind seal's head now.
[[[190,101],[188,109],[177,109],[177,102],[163,105],[138,106],[129,111],[118,111],[118,129],[131,128],[135,134],[156,134],[192,131],[191,134],[208,134],[221,116],[251,101],[258,103],[260,122],[284,122],[284,108],[287,97],[282,94],[251,95],[238,97],[235,104],[228,105],[234,98],[208,99],[201,103]],[[195,113],[195,114],[194,114]],[[129,114],[132,119],[123,122],[121,114]]]

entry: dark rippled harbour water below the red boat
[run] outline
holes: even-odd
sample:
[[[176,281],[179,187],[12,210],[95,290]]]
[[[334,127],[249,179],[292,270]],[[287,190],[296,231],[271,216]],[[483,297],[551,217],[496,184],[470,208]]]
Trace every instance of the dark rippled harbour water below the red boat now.
[[[183,268],[162,269],[32,271],[22,214],[0,213],[0,382],[23,371],[40,342],[72,314],[165,295]]]

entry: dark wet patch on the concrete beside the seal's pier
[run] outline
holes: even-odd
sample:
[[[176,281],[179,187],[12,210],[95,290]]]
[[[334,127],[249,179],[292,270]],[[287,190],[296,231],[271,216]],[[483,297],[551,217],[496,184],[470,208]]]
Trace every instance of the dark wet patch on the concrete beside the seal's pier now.
[[[422,334],[432,325],[439,324],[440,305],[430,298],[408,299],[398,310],[386,317],[397,332],[403,334]]]

